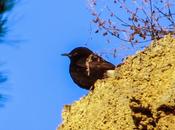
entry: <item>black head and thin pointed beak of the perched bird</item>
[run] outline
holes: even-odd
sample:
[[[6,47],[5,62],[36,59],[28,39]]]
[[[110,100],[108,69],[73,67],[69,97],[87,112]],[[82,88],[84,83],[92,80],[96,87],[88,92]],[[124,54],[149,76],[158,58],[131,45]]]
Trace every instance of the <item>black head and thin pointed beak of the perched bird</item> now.
[[[70,53],[64,53],[62,56],[67,56],[71,59],[71,61],[75,61],[80,58],[87,58],[93,52],[86,47],[77,47],[73,49]]]

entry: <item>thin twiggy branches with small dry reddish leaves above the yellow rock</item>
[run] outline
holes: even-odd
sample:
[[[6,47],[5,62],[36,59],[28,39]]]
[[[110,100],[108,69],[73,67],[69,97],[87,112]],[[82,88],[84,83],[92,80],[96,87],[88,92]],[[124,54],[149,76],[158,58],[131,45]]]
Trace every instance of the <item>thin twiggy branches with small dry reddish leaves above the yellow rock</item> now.
[[[106,11],[97,15],[99,3],[100,0],[93,1],[92,13],[95,14],[94,23],[104,31],[103,36],[110,34],[134,44],[175,34],[173,0],[113,0],[113,3],[106,3]]]

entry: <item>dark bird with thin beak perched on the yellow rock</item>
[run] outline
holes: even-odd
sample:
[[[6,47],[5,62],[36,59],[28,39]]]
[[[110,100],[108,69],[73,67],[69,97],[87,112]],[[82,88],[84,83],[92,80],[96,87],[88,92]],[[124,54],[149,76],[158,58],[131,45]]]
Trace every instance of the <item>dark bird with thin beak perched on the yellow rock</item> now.
[[[95,81],[103,79],[107,70],[115,69],[113,64],[86,47],[77,47],[62,56],[68,56],[70,59],[69,73],[73,81],[87,90],[92,90]]]

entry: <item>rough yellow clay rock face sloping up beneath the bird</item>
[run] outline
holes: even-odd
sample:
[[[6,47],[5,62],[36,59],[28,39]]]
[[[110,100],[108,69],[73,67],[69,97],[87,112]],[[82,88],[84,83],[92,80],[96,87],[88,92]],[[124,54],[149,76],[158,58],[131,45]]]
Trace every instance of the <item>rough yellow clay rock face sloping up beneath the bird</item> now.
[[[62,116],[57,130],[175,130],[175,39],[129,56]]]

